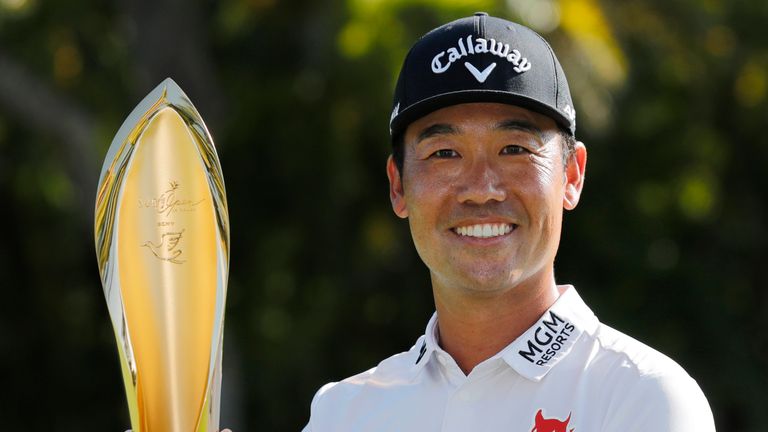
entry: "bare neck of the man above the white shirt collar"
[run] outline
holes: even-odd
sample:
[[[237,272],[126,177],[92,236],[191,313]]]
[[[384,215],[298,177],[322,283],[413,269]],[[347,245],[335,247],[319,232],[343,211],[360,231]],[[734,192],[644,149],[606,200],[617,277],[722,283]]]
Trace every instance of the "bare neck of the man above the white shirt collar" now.
[[[554,277],[498,296],[463,295],[435,286],[440,346],[469,374],[528,330],[560,296]]]

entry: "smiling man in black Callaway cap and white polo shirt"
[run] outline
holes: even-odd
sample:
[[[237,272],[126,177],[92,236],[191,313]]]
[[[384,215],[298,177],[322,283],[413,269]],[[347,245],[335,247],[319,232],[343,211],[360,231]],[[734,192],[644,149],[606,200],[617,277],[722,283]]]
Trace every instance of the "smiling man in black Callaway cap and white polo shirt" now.
[[[405,59],[387,161],[436,313],[408,352],[312,401],[305,431],[714,431],[696,382],[557,285],[587,151],[552,49],[478,13]]]

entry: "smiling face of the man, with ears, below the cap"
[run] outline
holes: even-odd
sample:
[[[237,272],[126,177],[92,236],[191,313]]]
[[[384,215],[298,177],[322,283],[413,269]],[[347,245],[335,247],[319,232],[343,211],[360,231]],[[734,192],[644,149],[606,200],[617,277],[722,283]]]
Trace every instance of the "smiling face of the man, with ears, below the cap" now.
[[[387,172],[433,285],[476,294],[546,282],[563,208],[576,206],[586,150],[563,166],[549,117],[494,103],[450,106],[405,132],[402,176]]]

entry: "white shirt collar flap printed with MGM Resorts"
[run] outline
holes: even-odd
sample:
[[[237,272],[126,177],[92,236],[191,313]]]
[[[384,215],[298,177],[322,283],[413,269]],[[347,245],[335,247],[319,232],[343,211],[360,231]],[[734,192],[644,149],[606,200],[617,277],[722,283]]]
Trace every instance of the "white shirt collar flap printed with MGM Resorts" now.
[[[583,333],[597,330],[597,317],[576,289],[567,286],[555,303],[499,355],[520,375],[539,381],[560,363]]]

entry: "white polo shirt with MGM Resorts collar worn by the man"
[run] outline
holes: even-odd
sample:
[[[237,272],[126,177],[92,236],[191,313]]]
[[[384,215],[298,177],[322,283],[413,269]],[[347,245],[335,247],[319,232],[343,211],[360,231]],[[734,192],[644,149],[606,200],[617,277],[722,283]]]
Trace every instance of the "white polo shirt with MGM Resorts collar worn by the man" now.
[[[469,375],[438,345],[437,316],[408,352],[323,386],[304,432],[713,432],[674,361],[604,325],[569,287]]]

